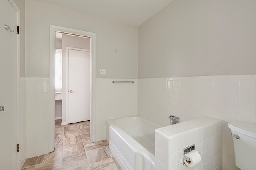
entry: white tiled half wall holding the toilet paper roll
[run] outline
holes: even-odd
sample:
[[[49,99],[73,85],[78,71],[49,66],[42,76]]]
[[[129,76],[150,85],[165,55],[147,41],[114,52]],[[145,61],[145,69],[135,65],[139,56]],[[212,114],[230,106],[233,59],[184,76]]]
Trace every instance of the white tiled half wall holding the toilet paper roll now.
[[[222,120],[203,117],[155,130],[156,170],[221,170]],[[182,164],[182,150],[195,144],[201,162]]]

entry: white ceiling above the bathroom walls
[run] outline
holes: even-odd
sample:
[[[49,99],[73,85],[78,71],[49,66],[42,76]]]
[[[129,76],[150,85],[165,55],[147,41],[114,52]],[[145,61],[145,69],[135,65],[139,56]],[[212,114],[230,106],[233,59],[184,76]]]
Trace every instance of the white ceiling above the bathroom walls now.
[[[139,26],[172,0],[36,0]]]

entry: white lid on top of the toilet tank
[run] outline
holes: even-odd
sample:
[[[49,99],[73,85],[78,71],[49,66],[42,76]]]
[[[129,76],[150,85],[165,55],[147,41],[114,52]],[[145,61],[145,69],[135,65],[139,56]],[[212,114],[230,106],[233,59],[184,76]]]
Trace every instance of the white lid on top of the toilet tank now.
[[[230,122],[228,127],[232,130],[256,138],[256,125],[243,122]]]

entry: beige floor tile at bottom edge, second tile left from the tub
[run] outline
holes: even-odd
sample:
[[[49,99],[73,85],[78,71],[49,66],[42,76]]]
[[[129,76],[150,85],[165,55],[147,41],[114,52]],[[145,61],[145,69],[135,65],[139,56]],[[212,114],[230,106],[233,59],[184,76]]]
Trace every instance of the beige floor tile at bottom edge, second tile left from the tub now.
[[[83,166],[89,166],[85,152],[63,158],[63,170],[73,170]]]

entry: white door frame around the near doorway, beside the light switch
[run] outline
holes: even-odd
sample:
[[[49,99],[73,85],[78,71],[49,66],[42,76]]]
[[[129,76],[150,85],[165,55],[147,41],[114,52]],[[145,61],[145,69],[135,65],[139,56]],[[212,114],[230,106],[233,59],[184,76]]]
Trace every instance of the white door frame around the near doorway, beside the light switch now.
[[[76,30],[72,28],[66,28],[61,26],[50,25],[50,51],[49,51],[49,150],[54,150],[54,115],[55,115],[55,32],[71,33],[81,36],[90,37],[90,50],[91,50],[91,109],[90,109],[90,140],[95,142],[95,82],[96,82],[96,34],[93,32],[86,32],[82,30]]]

